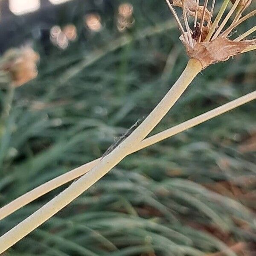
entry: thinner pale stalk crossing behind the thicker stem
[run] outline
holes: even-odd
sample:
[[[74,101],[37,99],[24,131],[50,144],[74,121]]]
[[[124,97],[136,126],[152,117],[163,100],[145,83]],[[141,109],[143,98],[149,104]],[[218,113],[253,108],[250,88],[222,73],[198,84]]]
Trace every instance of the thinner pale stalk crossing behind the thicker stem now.
[[[180,132],[186,131],[189,128],[192,128],[196,125],[206,122],[209,119],[219,116],[241,105],[244,105],[245,103],[250,102],[254,99],[256,99],[256,91],[252,93],[248,93],[218,108],[214,108],[210,111],[207,111],[206,113],[203,113],[199,116],[189,119],[179,125],[175,125],[172,128],[169,128],[147,139],[144,139],[141,143],[139,143],[138,147],[134,149],[134,152],[139,151],[143,148],[146,148],[162,140],[165,140],[169,137],[172,137]],[[90,169],[96,166],[96,164],[99,163],[99,161],[100,161],[100,158],[93,160],[90,163],[86,163],[82,166],[79,166],[76,169],[73,169],[63,175],[60,175],[52,180],[49,180],[48,182],[42,184],[41,186],[36,187],[35,189],[32,189],[31,191],[20,196],[19,198],[15,199],[9,204],[6,204],[6,206],[0,208],[0,220],[10,215],[12,212],[15,212],[17,209],[20,209],[26,204],[29,204],[35,199],[41,197],[42,195],[45,195],[46,193],[52,191],[53,189],[59,186],[62,186],[65,183],[80,177],[81,175],[84,175],[85,173],[89,172]]]

